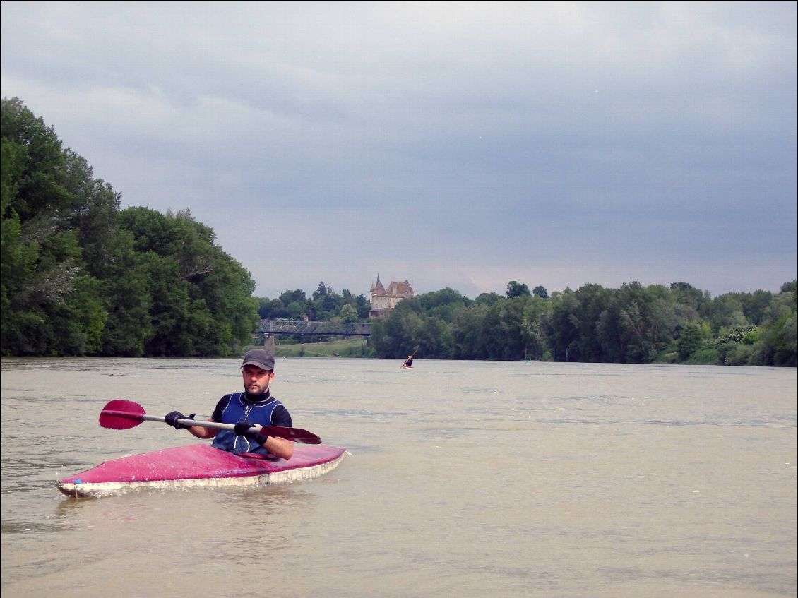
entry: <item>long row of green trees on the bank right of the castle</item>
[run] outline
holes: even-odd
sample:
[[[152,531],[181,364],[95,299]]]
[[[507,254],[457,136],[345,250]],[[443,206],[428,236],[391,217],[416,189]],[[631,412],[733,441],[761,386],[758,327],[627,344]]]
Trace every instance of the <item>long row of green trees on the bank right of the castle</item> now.
[[[377,356],[455,360],[796,366],[796,281],[779,293],[706,291],[678,282],[551,293],[508,283],[475,300],[441,289],[374,321]]]

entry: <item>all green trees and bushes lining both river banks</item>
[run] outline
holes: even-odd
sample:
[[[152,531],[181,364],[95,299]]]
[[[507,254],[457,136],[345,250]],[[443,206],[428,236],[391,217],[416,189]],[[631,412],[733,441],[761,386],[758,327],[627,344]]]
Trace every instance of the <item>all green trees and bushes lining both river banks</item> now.
[[[798,365],[795,279],[719,297],[687,282],[550,294],[509,281],[504,295],[407,297],[376,320],[363,294],[323,281],[310,297],[255,297],[251,274],[191,210],[121,209],[19,98],[2,100],[0,182],[2,356],[231,357],[259,320],[306,319],[369,321],[371,336],[279,338],[278,356],[404,359],[419,348],[423,360]]]

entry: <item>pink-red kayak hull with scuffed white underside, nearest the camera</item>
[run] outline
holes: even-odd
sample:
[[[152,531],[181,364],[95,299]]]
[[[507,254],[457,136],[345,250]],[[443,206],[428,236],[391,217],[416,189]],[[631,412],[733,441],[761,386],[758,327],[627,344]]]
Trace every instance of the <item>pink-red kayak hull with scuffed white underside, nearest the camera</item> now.
[[[112,459],[58,480],[57,487],[70,497],[100,498],[140,488],[266,486],[318,478],[334,470],[344,454],[341,447],[298,444],[290,459],[259,458],[192,444]]]

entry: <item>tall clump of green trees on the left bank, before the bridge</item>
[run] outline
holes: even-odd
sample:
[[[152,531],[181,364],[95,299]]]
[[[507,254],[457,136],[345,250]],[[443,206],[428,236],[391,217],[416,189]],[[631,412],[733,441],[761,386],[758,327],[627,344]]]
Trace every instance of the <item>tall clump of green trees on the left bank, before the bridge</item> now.
[[[231,356],[255,283],[189,210],[120,194],[18,98],[2,100],[4,356]]]

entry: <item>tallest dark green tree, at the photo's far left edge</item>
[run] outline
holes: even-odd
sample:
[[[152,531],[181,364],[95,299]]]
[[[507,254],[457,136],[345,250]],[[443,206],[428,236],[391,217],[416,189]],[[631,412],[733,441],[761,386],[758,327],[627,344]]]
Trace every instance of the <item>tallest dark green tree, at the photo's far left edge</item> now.
[[[18,98],[2,100],[3,355],[82,355],[105,321],[101,285],[88,273],[74,214],[85,179],[53,128]],[[77,187],[73,189],[70,187]],[[96,313],[92,313],[96,310]]]

